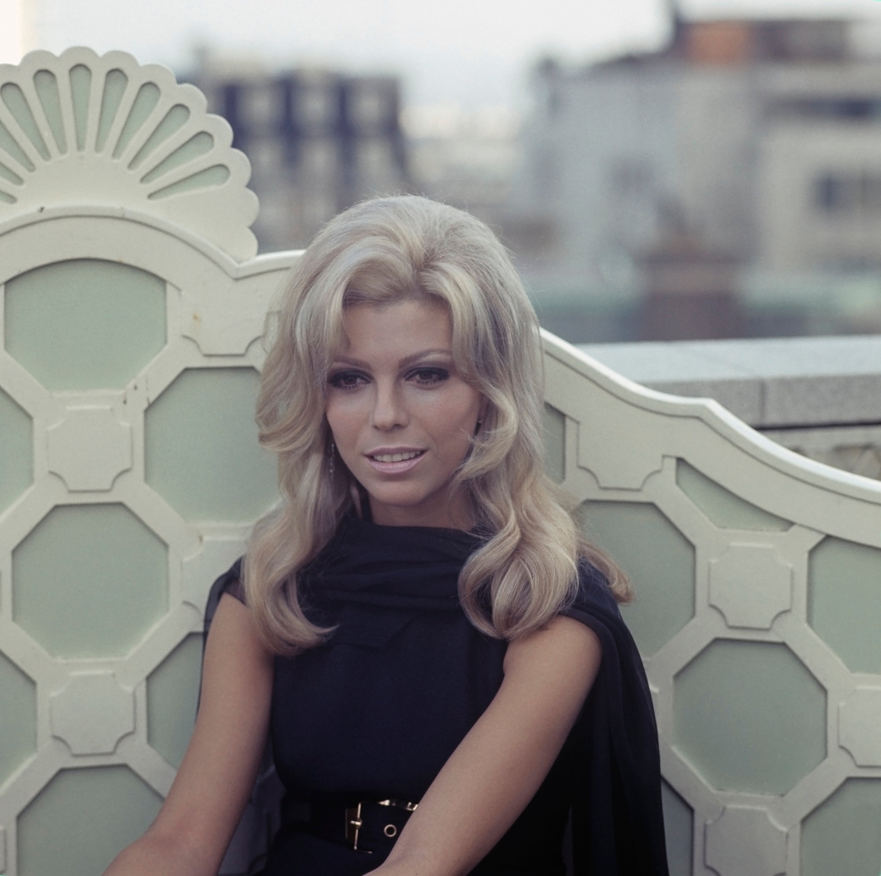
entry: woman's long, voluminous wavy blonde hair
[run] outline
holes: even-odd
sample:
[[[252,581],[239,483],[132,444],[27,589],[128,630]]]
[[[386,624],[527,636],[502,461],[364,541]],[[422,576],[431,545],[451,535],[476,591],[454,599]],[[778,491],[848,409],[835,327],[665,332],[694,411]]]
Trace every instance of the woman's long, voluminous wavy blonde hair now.
[[[354,501],[338,454],[331,475],[324,416],[344,308],[413,297],[448,307],[456,369],[488,401],[453,482],[488,533],[459,576],[470,621],[507,639],[541,628],[574,598],[580,557],[603,571],[619,601],[630,599],[624,575],[585,541],[565,494],[544,474],[538,322],[507,251],[462,210],[413,195],[379,198],[324,227],[267,324],[256,420],[261,444],[278,454],[281,503],[255,526],[243,583],[261,634],[279,653],[329,633],[303,613],[297,573]]]

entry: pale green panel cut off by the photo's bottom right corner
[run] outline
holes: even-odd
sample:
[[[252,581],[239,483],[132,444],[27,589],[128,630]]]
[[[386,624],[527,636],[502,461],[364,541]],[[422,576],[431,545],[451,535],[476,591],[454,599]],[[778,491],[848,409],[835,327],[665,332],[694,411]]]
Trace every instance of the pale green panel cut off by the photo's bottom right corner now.
[[[881,779],[849,778],[802,822],[801,872],[881,873]]]

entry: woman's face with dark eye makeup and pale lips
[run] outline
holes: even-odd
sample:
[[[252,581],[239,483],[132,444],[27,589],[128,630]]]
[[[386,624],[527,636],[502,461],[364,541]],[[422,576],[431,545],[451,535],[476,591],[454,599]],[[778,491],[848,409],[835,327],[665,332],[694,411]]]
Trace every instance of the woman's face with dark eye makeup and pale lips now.
[[[449,487],[485,402],[455,370],[447,308],[416,298],[352,305],[343,325],[348,344],[330,366],[325,413],[374,522],[470,528]]]

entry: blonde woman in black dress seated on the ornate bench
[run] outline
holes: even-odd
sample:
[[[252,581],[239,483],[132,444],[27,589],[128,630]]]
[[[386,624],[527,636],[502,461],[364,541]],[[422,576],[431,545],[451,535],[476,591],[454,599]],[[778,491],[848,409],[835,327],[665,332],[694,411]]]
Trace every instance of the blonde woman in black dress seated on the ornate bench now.
[[[403,196],[293,269],[257,405],[283,501],[222,579],[196,728],[107,876],[213,874],[270,731],[267,876],[665,874],[654,717],[542,467],[537,320],[504,248]]]

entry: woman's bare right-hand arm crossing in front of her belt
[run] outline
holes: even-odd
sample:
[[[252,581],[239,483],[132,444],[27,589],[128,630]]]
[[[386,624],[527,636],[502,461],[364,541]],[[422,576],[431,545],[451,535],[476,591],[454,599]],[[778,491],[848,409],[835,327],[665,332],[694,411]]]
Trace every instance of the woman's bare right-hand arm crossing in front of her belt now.
[[[601,659],[596,634],[568,617],[510,644],[499,692],[375,876],[461,876],[477,865],[544,781]]]

